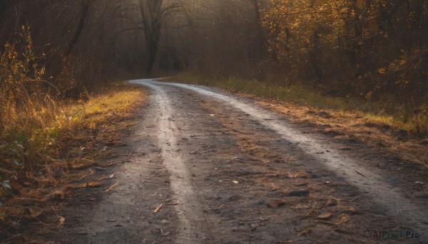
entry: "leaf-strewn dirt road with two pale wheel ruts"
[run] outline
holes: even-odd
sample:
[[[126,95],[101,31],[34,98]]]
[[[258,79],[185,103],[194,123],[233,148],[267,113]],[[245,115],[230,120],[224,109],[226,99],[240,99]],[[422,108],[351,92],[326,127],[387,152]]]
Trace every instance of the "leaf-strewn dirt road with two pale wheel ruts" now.
[[[131,83],[151,101],[117,159],[120,184],[61,230],[66,242],[428,243],[418,166],[248,98]]]

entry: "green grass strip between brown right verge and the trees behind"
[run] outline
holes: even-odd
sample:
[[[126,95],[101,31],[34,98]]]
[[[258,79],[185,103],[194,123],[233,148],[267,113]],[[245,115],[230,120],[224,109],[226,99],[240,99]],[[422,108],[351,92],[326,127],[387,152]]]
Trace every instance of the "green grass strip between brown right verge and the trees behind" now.
[[[394,102],[371,101],[361,97],[332,97],[302,84],[281,85],[240,78],[203,78],[193,73],[180,73],[166,80],[198,85],[210,85],[233,92],[270,98],[310,109],[332,110],[344,115],[357,115],[370,122],[387,124],[417,136],[428,134],[428,102],[421,105],[403,105]]]

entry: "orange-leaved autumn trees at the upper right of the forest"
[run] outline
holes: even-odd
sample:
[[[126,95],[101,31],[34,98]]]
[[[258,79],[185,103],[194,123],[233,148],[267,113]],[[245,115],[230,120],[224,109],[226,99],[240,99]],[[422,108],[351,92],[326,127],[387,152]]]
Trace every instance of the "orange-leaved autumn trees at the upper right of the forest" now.
[[[290,83],[414,106],[427,99],[427,11],[419,0],[271,0],[263,26]]]

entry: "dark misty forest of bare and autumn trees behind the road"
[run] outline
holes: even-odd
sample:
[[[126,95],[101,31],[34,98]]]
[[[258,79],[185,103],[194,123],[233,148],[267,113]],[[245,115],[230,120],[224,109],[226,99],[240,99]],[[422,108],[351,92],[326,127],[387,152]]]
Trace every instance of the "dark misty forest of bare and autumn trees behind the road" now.
[[[49,82],[63,96],[127,73],[191,71],[413,105],[427,98],[424,0],[2,0],[0,21],[2,65],[16,52],[26,83]]]

